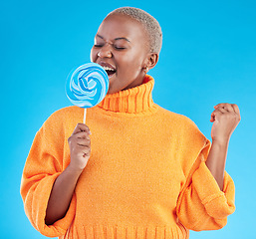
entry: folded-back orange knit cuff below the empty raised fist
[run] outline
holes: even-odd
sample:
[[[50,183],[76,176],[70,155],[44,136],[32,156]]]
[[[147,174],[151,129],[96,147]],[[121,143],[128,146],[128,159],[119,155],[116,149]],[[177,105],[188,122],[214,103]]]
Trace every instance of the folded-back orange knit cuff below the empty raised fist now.
[[[192,183],[209,216],[223,219],[234,212],[235,186],[226,171],[223,191],[220,190],[215,178],[203,161],[194,172]]]

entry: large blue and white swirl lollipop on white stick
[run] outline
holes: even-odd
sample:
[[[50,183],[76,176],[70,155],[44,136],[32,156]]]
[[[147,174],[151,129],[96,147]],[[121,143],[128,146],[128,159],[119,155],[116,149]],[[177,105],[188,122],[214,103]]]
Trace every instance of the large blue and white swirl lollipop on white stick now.
[[[97,106],[109,90],[109,77],[102,66],[88,63],[72,71],[66,84],[66,95],[72,104],[85,109]]]

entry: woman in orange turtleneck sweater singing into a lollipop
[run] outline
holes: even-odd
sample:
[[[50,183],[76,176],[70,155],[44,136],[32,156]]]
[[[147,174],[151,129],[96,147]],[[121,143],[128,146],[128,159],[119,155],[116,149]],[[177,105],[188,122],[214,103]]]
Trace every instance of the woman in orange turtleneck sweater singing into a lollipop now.
[[[236,105],[211,114],[212,144],[196,125],[152,102],[161,30],[140,9],[120,8],[101,24],[91,59],[108,72],[97,107],[62,109],[37,132],[21,194],[37,230],[60,238],[188,238],[234,211],[225,172]],[[75,128],[75,129],[74,129]],[[92,132],[92,133],[91,133]]]

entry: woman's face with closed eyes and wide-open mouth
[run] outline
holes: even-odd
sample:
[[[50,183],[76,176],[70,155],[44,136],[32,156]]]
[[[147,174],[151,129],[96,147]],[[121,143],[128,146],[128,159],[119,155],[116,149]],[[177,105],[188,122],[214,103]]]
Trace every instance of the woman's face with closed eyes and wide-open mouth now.
[[[103,66],[110,79],[108,94],[142,84],[150,53],[143,26],[128,16],[112,15],[101,24],[91,61]]]

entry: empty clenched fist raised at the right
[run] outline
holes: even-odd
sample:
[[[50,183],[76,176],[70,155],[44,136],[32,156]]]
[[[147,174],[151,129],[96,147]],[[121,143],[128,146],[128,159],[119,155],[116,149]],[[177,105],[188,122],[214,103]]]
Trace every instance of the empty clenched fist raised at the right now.
[[[227,143],[239,123],[240,112],[235,104],[221,103],[214,107],[210,121],[213,122],[211,129],[212,141]]]

